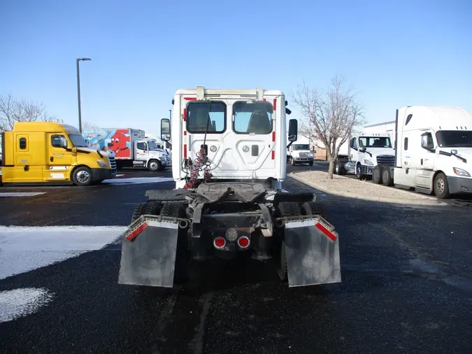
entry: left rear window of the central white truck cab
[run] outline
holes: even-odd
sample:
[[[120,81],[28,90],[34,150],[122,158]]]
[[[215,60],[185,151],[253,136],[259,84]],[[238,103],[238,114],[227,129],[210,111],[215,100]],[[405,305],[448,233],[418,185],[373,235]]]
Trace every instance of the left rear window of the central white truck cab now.
[[[187,132],[215,134],[226,130],[226,104],[220,101],[190,102],[187,105]]]

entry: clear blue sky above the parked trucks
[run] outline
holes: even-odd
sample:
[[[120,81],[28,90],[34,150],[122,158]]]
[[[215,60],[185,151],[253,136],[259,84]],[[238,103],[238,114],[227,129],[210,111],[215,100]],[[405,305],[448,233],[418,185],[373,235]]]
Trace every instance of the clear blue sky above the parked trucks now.
[[[164,4],[165,3],[165,4]],[[0,0],[0,92],[83,120],[159,134],[178,88],[345,75],[371,123],[410,104],[472,111],[472,1]],[[294,111],[291,118],[297,117]]]

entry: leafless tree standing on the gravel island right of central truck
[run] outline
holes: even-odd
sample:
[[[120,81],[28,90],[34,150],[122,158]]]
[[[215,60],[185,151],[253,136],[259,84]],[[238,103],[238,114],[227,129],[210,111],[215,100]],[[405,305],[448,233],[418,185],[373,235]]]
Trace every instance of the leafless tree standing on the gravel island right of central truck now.
[[[345,78],[338,76],[331,79],[326,92],[310,88],[303,81],[292,96],[294,104],[301,108],[301,128],[327,149],[332,179],[339,148],[348,140],[352,129],[366,123],[364,105],[357,99],[354,88],[346,87]]]

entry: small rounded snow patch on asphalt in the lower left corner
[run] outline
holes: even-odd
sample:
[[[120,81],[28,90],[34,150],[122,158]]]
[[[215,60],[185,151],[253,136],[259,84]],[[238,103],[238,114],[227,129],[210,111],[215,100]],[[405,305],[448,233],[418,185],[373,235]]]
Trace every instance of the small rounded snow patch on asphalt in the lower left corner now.
[[[42,288],[22,288],[0,292],[0,323],[35,313],[51,302],[52,294]]]

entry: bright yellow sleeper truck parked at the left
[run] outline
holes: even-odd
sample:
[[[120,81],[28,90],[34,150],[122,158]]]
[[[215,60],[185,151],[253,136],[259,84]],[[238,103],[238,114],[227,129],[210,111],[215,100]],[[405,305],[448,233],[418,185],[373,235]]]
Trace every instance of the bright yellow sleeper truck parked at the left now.
[[[71,125],[17,122],[13,132],[1,135],[4,185],[91,185],[116,176],[115,158],[87,148]]]

